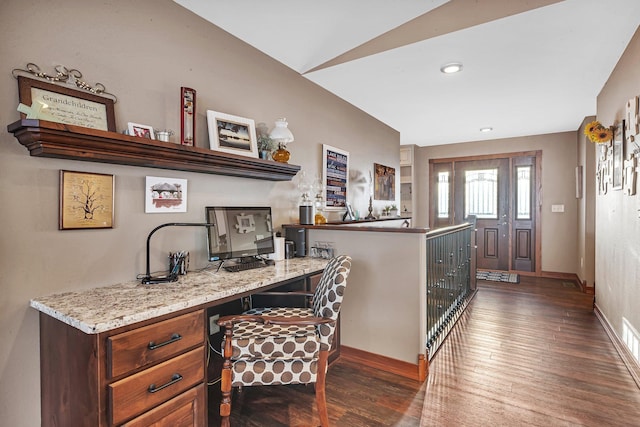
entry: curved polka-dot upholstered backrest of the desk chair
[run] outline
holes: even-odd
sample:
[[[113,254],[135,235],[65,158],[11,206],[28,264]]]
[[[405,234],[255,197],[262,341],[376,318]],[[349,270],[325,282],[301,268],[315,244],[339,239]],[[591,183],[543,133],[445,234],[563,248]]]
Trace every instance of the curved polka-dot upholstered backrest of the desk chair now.
[[[350,271],[351,257],[347,255],[340,255],[329,261],[313,295],[314,316],[338,319]],[[320,350],[329,350],[336,329],[335,324],[318,325],[317,328],[320,335]]]

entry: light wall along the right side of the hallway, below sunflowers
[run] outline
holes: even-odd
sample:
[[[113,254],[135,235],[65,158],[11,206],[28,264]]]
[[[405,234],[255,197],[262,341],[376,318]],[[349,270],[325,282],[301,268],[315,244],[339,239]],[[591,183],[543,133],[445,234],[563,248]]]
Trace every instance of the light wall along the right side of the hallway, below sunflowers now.
[[[624,118],[625,105],[640,95],[640,30],[636,31],[598,95],[598,120],[612,125]],[[626,145],[629,153],[632,145]],[[595,160],[594,160],[595,162]],[[622,335],[622,317],[640,331],[640,194],[611,191],[596,197],[596,303]]]

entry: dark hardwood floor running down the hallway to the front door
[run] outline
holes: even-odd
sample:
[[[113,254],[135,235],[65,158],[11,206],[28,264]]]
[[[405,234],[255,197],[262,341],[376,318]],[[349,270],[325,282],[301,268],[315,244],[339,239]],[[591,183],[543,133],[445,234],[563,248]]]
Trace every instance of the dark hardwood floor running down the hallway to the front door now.
[[[593,297],[528,277],[479,283],[425,383],[338,360],[327,403],[335,426],[640,426],[640,390]],[[232,426],[319,425],[313,387],[246,388],[232,408]]]

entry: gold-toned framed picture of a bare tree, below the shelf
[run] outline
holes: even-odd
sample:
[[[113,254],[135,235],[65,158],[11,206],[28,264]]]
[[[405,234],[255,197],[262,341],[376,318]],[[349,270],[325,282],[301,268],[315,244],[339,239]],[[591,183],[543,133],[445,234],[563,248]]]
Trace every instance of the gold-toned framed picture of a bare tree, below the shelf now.
[[[60,171],[60,230],[113,228],[113,175]]]

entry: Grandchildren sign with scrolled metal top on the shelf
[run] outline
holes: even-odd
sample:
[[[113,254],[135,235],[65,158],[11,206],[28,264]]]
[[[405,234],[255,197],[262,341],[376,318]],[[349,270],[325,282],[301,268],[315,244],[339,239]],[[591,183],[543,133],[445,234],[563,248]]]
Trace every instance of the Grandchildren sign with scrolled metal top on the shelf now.
[[[104,85],[91,86],[81,80],[82,73],[59,65],[56,75],[48,75],[36,64],[16,68],[22,118],[40,119],[91,129],[116,131],[116,97]]]

